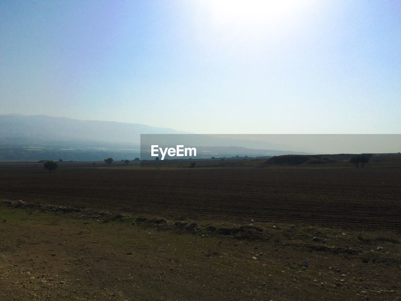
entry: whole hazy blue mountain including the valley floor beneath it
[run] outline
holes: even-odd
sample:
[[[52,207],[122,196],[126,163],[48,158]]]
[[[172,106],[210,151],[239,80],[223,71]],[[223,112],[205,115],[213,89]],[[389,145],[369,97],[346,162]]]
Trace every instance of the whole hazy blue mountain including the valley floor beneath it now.
[[[162,134],[156,136],[154,144],[203,146],[199,155],[204,158],[302,153],[286,144],[233,135],[192,135],[144,124],[8,114],[0,115],[0,161],[101,161],[105,157],[132,160],[140,157],[140,134]]]

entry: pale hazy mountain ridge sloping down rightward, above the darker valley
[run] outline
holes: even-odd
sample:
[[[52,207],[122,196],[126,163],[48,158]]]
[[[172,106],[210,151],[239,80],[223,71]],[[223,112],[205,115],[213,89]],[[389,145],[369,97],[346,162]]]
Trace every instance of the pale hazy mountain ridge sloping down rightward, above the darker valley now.
[[[193,133],[156,128],[145,124],[77,120],[46,115],[0,115],[0,144],[26,146],[43,144],[72,147],[121,148],[140,145],[140,134],[169,134],[156,136],[153,144],[188,144],[196,146],[242,146],[254,149],[296,150],[287,144],[235,138],[235,135],[192,135]],[[171,135],[180,134],[180,135]],[[186,135],[182,135],[186,134]]]

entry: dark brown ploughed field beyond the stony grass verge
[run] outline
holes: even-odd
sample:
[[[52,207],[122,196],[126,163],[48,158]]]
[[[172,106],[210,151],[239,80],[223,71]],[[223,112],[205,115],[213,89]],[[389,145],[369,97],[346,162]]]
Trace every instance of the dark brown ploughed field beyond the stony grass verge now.
[[[85,167],[86,166],[86,167]],[[401,168],[139,170],[0,165],[0,198],[171,219],[401,229]],[[84,168],[83,168],[84,167]]]

